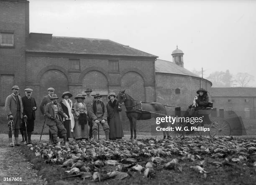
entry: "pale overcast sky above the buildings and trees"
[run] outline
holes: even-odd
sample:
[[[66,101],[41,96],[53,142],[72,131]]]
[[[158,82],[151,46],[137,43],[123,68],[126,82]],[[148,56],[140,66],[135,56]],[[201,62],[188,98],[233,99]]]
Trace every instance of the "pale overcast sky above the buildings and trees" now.
[[[184,67],[204,77],[256,77],[253,0],[30,0],[30,32],[110,39],[169,61],[178,45]]]

